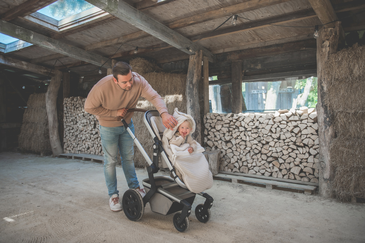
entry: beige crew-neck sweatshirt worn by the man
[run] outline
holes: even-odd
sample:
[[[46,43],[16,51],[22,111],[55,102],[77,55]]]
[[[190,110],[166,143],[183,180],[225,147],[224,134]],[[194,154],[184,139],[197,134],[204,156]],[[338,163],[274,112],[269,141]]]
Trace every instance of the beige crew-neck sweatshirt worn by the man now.
[[[160,112],[168,112],[165,101],[151,87],[151,85],[138,73],[132,72],[133,86],[130,91],[123,90],[113,81],[113,75],[108,75],[97,82],[90,90],[85,100],[85,111],[93,114],[101,126],[123,126],[120,117],[116,116],[117,110],[122,108],[132,109],[137,106],[139,97],[150,101]],[[131,122],[134,112],[128,112],[124,120]]]

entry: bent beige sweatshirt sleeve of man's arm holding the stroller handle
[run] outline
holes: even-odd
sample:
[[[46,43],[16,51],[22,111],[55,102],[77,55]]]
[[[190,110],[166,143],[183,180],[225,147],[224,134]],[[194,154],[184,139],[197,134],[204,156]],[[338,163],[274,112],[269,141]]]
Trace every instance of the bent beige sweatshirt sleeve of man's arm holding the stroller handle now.
[[[116,113],[118,110],[109,110],[102,106],[103,104],[103,95],[100,90],[94,86],[90,92],[88,97],[85,100],[84,109],[87,113],[97,116],[112,116],[116,117]]]

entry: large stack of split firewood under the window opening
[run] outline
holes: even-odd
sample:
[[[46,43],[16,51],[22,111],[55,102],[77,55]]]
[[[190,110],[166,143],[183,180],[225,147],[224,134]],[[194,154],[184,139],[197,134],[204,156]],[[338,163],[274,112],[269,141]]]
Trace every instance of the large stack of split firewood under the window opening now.
[[[221,150],[220,170],[318,183],[315,108],[275,113],[207,113],[206,150]]]

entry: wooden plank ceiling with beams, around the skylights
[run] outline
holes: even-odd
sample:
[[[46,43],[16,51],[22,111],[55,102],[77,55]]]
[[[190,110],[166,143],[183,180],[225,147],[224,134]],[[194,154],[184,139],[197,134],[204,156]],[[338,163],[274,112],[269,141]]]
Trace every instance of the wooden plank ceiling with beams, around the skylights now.
[[[66,24],[61,31],[31,15],[54,1],[0,1],[0,32],[33,44],[3,49],[0,70],[42,78],[61,69],[84,76],[97,74],[100,66],[105,73],[111,59],[143,57],[171,71],[203,50],[212,65],[210,74],[215,74],[220,66],[224,69],[222,63],[237,59],[268,60],[285,53],[281,50],[313,50],[316,25],[331,27],[340,20],[345,32],[365,30],[364,0],[86,0],[105,12]],[[233,15],[238,15],[235,26]],[[311,58],[308,63],[315,63]],[[257,62],[262,61],[247,61],[247,69],[262,64]],[[275,69],[262,66],[266,74]]]

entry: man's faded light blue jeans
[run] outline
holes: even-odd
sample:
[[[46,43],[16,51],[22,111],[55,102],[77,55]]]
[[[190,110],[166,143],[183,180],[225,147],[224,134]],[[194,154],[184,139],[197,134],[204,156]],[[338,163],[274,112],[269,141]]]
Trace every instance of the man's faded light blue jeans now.
[[[133,121],[128,124],[129,128],[134,134]],[[108,187],[108,194],[111,197],[113,194],[118,194],[116,169],[118,163],[118,148],[120,157],[122,158],[122,168],[124,176],[126,177],[128,187],[136,189],[139,186],[136,171],[134,168],[134,150],[133,139],[129,135],[124,126],[120,127],[103,127],[100,126],[101,146],[104,152],[104,175],[105,182]]]

